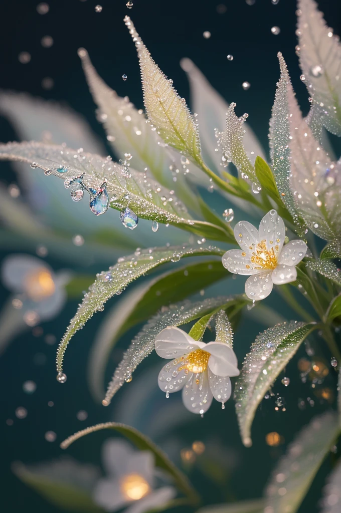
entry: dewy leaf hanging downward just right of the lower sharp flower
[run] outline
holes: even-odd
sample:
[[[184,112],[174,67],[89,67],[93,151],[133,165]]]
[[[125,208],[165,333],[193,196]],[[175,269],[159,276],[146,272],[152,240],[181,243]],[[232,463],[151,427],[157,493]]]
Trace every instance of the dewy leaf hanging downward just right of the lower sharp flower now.
[[[259,333],[253,342],[235,386],[236,412],[245,446],[252,445],[251,425],[264,394],[312,329],[313,323],[285,322]]]

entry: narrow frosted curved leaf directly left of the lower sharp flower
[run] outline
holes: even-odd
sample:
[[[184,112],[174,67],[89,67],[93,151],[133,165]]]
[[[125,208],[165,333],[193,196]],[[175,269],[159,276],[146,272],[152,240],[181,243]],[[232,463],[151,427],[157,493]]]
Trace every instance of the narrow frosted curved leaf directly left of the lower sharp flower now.
[[[123,359],[118,365],[112,380],[109,383],[108,390],[103,404],[108,405],[124,384],[130,381],[132,372],[155,349],[155,337],[167,326],[181,326],[198,317],[210,313],[215,308],[226,305],[236,300],[236,296],[205,299],[196,303],[186,300],[178,305],[164,307],[164,311],[154,315],[148,323],[142,328],[137,336],[132,340],[129,348],[123,354]]]

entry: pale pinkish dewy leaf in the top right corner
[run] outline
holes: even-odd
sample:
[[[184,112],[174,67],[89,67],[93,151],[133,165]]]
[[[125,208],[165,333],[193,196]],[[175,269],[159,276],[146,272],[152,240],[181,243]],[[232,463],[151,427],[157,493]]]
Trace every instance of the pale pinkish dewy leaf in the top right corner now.
[[[314,0],[298,1],[299,64],[327,130],[341,135],[341,45]]]

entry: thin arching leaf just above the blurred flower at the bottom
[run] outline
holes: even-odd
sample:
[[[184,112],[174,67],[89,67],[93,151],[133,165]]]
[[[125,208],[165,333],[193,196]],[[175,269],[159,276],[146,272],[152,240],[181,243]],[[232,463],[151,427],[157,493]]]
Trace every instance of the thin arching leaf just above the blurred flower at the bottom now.
[[[135,429],[134,427],[127,426],[125,424],[119,424],[117,422],[106,422],[104,424],[97,424],[96,426],[91,426],[82,431],[78,431],[71,437],[64,440],[61,443],[62,449],[67,449],[75,440],[83,437],[84,435],[88,435],[94,431],[99,431],[101,429],[113,429],[118,431],[127,438],[131,443],[133,443],[139,450],[148,450],[154,454],[155,457],[155,465],[162,470],[165,470],[169,476],[171,476],[174,480],[175,485],[181,490],[186,496],[191,498],[193,504],[197,504],[198,495],[195,489],[192,487],[190,481],[188,481],[187,477],[174,465],[174,463],[169,460],[165,452],[163,452],[160,447],[158,447],[154,442],[152,442],[148,437],[143,435],[140,431]]]

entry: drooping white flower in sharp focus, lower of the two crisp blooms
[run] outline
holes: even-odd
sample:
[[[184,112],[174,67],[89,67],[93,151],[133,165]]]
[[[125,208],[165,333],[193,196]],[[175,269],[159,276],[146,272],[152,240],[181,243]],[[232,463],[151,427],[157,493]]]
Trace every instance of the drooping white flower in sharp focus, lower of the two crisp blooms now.
[[[193,413],[207,411],[215,398],[224,404],[231,396],[229,376],[238,376],[233,349],[223,342],[197,342],[185,331],[168,326],[155,339],[161,358],[174,358],[159,373],[159,387],[167,393],[182,389],[182,400]]]

